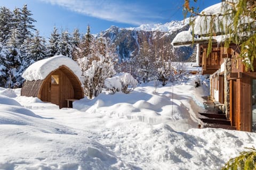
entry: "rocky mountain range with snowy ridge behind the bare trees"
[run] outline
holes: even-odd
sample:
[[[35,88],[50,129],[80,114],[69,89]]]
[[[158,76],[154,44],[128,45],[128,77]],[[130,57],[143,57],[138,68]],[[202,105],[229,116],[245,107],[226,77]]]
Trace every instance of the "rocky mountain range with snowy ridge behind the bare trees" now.
[[[111,26],[106,31],[102,31],[101,35],[109,38],[115,45],[119,60],[127,60],[131,56],[139,55],[142,43],[147,41],[151,48],[158,51],[174,52],[176,61],[186,61],[193,49],[191,47],[173,49],[171,42],[177,33],[188,29],[189,21],[185,19],[165,24],[143,24],[136,28]]]

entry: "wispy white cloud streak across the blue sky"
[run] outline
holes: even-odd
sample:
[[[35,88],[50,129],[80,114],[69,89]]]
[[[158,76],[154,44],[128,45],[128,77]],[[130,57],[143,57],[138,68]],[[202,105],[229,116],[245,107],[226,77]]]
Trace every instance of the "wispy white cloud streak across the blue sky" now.
[[[93,16],[108,21],[140,25],[153,22],[163,17],[148,11],[145,4],[130,4],[129,1],[90,1],[90,0],[40,0],[60,5],[81,14]]]

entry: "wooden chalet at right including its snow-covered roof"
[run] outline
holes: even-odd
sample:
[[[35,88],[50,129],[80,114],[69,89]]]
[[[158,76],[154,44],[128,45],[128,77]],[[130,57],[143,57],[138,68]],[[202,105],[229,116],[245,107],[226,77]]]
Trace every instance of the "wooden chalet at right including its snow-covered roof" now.
[[[222,5],[229,3],[221,2],[205,8],[204,14],[225,13]],[[227,20],[225,24],[230,24]],[[224,47],[225,36],[221,36],[221,27],[218,20],[214,21],[214,37],[209,38],[209,32],[201,28],[210,24],[210,19],[205,20],[198,16],[195,20],[193,39],[191,29],[182,31],[172,41],[173,46],[191,45],[194,41],[199,44],[199,65],[202,66],[202,74],[210,75],[210,96],[208,99],[214,106],[221,106],[226,119],[236,130],[256,132],[256,72],[246,71],[239,57],[239,45],[229,44]],[[223,26],[223,25],[222,25]],[[209,31],[209,30],[208,30]],[[212,50],[207,56],[207,46],[212,41]],[[254,62],[256,71],[256,62]]]

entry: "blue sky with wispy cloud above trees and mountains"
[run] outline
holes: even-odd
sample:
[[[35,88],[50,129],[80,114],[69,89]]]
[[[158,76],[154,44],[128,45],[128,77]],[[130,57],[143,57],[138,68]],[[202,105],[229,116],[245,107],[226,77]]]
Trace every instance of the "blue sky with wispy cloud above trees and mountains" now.
[[[54,25],[70,32],[81,33],[91,26],[92,33],[117,27],[138,27],[141,24],[166,23],[182,20],[184,0],[0,0],[0,6],[13,10],[27,4],[37,21],[42,36],[49,37]],[[221,0],[197,0],[202,10]]]

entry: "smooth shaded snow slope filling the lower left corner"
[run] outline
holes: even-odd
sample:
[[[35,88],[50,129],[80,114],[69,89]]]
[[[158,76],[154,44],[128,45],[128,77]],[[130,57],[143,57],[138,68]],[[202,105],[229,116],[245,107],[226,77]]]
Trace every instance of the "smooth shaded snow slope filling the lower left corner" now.
[[[13,100],[13,99],[11,99]],[[2,101],[2,100],[0,100]],[[54,111],[48,111],[54,115]],[[132,169],[100,143],[20,106],[0,104],[1,169]],[[93,168],[92,168],[93,167]]]

